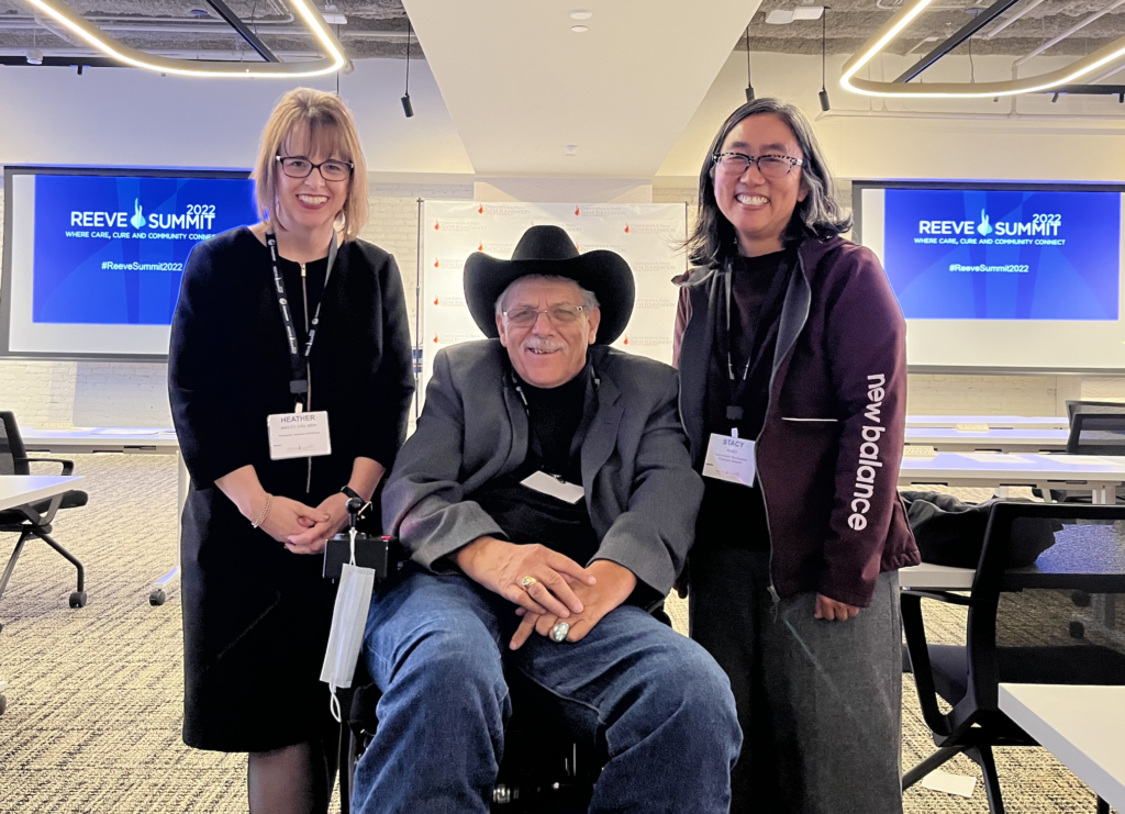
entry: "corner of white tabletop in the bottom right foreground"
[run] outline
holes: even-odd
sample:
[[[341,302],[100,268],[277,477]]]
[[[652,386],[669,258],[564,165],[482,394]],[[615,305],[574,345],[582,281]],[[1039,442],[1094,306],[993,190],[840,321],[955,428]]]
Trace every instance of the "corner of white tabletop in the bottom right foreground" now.
[[[1125,811],[1125,687],[1001,684],[1000,711]]]

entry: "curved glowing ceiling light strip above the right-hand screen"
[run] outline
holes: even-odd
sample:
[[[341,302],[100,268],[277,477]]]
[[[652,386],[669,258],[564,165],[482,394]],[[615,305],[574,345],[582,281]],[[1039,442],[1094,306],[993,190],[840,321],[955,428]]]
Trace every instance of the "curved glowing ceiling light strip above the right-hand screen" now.
[[[908,84],[906,82],[875,82],[860,79],[858,73],[868,62],[886,47],[914,19],[920,15],[933,0],[918,0],[914,6],[903,7],[886,25],[875,31],[875,35],[863,44],[856,54],[844,63],[844,74],[840,84],[854,93],[878,97],[926,97],[956,99],[992,99],[998,96],[1016,96],[1018,93],[1035,93],[1051,90],[1061,84],[1070,84],[1095,71],[1125,62],[1125,37],[1115,39],[1109,45],[1098,48],[1092,54],[1072,62],[1050,73],[1026,79],[1009,79],[1004,82],[935,82]],[[968,89],[972,90],[968,90]]]

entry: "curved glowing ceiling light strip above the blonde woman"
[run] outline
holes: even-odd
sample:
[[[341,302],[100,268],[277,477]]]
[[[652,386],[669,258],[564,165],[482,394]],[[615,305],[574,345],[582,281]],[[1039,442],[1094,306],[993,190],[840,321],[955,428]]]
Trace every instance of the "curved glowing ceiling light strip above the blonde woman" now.
[[[24,0],[24,2],[36,11],[55,20],[71,34],[107,56],[126,65],[143,67],[146,71],[155,71],[158,73],[172,73],[178,76],[295,79],[323,76],[326,73],[335,73],[343,70],[349,64],[348,57],[344,56],[343,46],[332,36],[324,24],[324,19],[309,8],[306,0],[289,0],[289,3],[296,8],[297,13],[305,20],[305,25],[321,40],[321,45],[328,53],[327,60],[315,63],[218,62],[207,60],[174,60],[168,56],[156,56],[155,54],[147,54],[143,51],[130,48],[128,45],[106,36],[105,31],[86,18],[51,0]],[[235,65],[237,67],[234,67]]]

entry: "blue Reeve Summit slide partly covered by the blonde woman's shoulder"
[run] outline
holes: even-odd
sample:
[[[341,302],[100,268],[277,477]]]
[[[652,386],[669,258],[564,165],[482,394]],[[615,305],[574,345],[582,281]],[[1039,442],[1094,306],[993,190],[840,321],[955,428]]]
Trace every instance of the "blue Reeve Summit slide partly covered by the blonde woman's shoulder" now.
[[[39,175],[32,319],[171,325],[191,247],[256,220],[249,179]]]

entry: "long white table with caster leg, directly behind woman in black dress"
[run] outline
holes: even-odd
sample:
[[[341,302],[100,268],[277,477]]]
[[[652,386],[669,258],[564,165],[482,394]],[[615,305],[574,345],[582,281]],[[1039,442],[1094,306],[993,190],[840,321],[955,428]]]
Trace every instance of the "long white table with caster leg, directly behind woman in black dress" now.
[[[177,489],[176,489],[176,527],[177,551],[179,551],[180,518],[183,516],[183,504],[188,499],[189,476],[183,458],[180,455],[180,442],[171,427],[72,427],[68,429],[39,429],[38,427],[20,427],[20,436],[28,453],[50,452],[55,455],[81,455],[100,452],[117,452],[125,454],[176,455]],[[179,555],[177,555],[179,562]],[[148,600],[153,605],[162,605],[168,595],[164,588],[179,575],[176,566],[162,575],[152,587]]]

